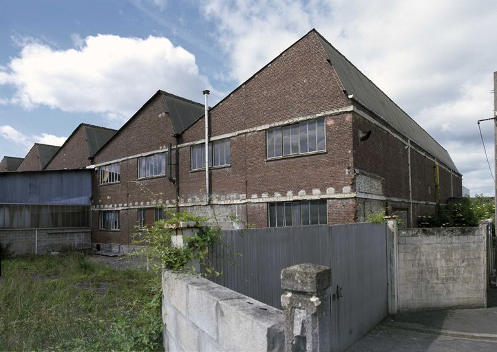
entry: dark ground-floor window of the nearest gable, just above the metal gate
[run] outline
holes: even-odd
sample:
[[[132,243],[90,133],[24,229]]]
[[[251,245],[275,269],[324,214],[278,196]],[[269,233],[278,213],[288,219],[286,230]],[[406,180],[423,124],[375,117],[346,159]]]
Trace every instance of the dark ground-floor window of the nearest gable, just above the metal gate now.
[[[269,203],[269,227],[326,224],[326,199]]]

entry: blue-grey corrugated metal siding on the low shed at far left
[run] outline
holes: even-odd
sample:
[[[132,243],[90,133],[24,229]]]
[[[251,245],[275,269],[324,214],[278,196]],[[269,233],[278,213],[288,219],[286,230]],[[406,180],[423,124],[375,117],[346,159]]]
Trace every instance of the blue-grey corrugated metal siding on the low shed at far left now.
[[[91,170],[2,173],[0,203],[91,205]]]

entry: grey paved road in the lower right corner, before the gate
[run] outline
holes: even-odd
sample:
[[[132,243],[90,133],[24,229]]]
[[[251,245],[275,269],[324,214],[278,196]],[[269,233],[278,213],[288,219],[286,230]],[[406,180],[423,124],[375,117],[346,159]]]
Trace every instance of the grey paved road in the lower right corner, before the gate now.
[[[447,309],[387,318],[348,352],[496,352],[497,289],[487,309]]]

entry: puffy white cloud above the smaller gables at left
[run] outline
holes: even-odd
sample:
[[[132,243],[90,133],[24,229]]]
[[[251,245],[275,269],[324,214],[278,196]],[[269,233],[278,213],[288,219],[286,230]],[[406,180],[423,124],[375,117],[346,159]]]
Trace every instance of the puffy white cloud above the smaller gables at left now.
[[[73,34],[76,49],[54,50],[26,41],[18,57],[0,67],[0,85],[25,109],[45,105],[68,112],[129,118],[158,89],[195,101],[215,90],[199,73],[195,56],[167,38]]]

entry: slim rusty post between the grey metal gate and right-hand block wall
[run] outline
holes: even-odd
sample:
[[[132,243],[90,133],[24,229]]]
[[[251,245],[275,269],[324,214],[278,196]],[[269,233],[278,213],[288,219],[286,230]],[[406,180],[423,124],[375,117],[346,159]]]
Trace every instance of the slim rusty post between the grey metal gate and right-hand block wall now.
[[[395,215],[383,217],[390,233],[387,233],[387,282],[388,282],[388,314],[397,314],[398,284],[397,284],[397,245],[398,229]]]

